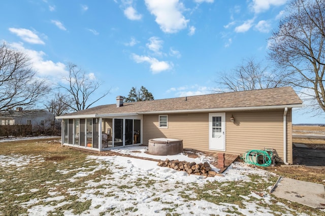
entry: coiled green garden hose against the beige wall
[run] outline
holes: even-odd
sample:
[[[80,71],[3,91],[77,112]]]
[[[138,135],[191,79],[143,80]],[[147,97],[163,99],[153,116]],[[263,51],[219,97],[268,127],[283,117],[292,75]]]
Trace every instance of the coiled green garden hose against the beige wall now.
[[[273,152],[267,152],[264,150],[248,150],[246,151],[242,159],[249,164],[256,166],[269,166],[272,163]],[[258,160],[263,159],[263,163],[259,163]]]

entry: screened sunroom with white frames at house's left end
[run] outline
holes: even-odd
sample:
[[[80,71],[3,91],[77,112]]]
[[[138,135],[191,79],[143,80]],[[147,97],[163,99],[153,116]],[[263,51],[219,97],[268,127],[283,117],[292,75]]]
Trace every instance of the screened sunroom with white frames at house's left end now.
[[[62,145],[105,151],[142,143],[142,115],[62,116]]]

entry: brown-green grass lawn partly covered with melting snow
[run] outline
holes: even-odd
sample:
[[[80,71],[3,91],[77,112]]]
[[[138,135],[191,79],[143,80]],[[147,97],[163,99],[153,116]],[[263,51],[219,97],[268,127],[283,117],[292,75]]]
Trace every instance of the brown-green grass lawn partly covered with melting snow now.
[[[0,143],[0,215],[325,215],[269,194],[271,169],[239,163],[202,179],[153,163],[53,139]]]

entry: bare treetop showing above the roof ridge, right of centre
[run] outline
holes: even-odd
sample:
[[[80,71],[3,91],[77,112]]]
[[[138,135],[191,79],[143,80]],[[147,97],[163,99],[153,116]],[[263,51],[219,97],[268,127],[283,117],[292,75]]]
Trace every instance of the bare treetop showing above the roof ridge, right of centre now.
[[[285,79],[286,74],[262,66],[261,62],[251,57],[244,59],[231,72],[223,73],[216,82],[225,87],[226,91],[237,92],[281,87]]]

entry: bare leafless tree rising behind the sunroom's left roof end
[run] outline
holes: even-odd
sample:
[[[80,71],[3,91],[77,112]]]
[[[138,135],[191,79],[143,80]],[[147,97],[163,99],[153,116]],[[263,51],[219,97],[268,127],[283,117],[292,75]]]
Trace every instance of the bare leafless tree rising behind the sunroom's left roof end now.
[[[73,63],[69,63],[68,68],[69,77],[64,77],[64,79],[68,81],[69,84],[59,85],[59,88],[65,90],[67,93],[65,95],[69,95],[68,97],[72,100],[71,104],[66,104],[72,110],[79,111],[88,109],[91,105],[98,102],[109,93],[108,90],[103,93],[101,97],[90,101],[91,96],[101,87],[102,82],[89,77],[81,68]]]

